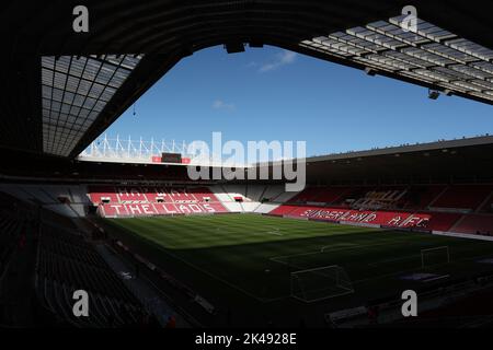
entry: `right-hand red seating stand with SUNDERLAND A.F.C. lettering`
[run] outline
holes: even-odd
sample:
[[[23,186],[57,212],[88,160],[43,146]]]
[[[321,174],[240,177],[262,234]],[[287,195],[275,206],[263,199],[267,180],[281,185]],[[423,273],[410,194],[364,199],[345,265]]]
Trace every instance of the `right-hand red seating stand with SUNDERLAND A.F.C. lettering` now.
[[[268,214],[370,226],[486,234],[493,229],[490,217],[463,214],[479,209],[488,212],[491,190],[490,185],[311,187],[284,205],[271,207]]]

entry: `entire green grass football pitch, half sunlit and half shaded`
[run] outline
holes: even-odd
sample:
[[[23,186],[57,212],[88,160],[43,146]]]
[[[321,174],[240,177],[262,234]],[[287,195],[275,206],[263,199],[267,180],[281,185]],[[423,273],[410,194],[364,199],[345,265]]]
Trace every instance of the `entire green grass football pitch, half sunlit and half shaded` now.
[[[215,306],[242,315],[262,313],[264,318],[286,319],[284,313],[318,317],[333,310],[400,295],[404,289],[420,290],[493,268],[481,261],[493,258],[493,242],[423,233],[256,214],[104,222],[119,240]],[[423,268],[422,249],[444,246],[445,249],[432,250],[425,254]],[[351,293],[323,298],[336,294],[328,280],[326,295],[322,288],[320,301],[307,303],[293,298],[291,272],[334,265],[351,280]],[[433,276],[426,281],[404,279],[413,273]],[[323,276],[320,280],[323,284]]]

